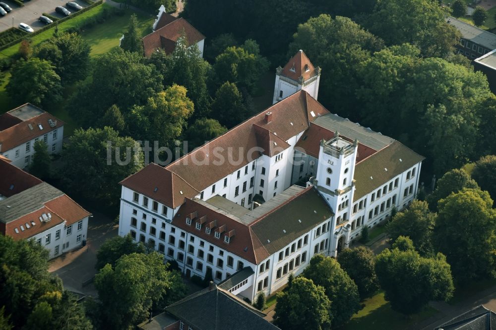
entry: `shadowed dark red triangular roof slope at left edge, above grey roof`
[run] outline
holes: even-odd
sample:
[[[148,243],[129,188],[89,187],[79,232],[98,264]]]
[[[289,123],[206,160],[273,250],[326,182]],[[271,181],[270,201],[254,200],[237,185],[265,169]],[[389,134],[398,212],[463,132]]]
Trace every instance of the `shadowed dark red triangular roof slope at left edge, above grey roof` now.
[[[43,181],[0,158],[0,195],[10,197]]]

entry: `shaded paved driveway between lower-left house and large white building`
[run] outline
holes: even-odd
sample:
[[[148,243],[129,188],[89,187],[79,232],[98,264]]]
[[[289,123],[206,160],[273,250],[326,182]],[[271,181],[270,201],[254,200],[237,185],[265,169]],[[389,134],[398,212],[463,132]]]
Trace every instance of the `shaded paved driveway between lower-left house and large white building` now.
[[[117,235],[118,224],[99,212],[86,209],[93,213],[86,246],[53,259],[49,272],[59,275],[66,289],[95,297],[98,293],[93,283],[84,286],[83,283],[90,282],[96,274],[96,252],[106,239]]]

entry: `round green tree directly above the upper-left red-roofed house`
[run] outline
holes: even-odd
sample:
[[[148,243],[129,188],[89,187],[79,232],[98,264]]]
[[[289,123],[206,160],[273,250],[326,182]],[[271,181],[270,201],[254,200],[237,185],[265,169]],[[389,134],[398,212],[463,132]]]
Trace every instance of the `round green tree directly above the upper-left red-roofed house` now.
[[[32,57],[19,60],[11,70],[12,77],[6,86],[16,104],[30,102],[49,108],[62,98],[61,78],[48,61]]]

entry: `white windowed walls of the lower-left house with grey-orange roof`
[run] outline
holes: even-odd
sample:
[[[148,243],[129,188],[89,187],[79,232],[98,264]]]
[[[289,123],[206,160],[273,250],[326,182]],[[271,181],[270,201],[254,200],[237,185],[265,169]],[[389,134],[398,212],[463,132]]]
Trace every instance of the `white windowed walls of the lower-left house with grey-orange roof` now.
[[[50,251],[50,259],[62,253],[74,250],[86,240],[88,232],[88,217],[79,220],[69,226],[62,222],[52,228],[31,236],[41,246]]]

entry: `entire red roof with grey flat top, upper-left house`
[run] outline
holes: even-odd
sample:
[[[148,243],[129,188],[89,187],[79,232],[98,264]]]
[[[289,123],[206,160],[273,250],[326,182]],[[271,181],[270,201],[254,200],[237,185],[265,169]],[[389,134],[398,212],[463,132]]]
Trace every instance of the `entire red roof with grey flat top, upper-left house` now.
[[[34,111],[34,109],[39,111]],[[30,117],[29,114],[24,115],[21,110],[24,112],[29,110],[29,113],[35,112],[36,115],[33,117]],[[0,127],[4,127],[0,131],[0,152],[6,152],[40,135],[47,134],[63,124],[62,120],[30,104],[10,110],[0,116]]]

